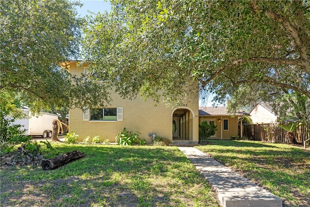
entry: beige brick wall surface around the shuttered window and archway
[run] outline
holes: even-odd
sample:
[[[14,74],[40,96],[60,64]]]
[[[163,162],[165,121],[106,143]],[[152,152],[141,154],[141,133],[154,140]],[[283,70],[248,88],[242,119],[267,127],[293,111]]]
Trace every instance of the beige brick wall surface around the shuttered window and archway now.
[[[78,67],[75,62],[70,62],[69,71],[73,75],[80,75],[84,72],[84,66]],[[154,106],[152,100],[123,99],[119,95],[112,93],[111,106],[123,107],[123,121],[83,121],[83,112],[79,109],[71,109],[69,111],[69,130],[79,135],[78,141],[83,141],[87,136],[100,136],[100,140],[109,139],[110,142],[115,141],[124,127],[129,131],[139,131],[140,138],[145,139],[147,143],[151,143],[149,134],[156,133],[157,136],[165,137],[172,140],[172,111],[171,107],[166,107],[159,103]],[[190,108],[195,117],[192,121],[192,137],[198,142],[198,99],[191,101],[186,105]]]

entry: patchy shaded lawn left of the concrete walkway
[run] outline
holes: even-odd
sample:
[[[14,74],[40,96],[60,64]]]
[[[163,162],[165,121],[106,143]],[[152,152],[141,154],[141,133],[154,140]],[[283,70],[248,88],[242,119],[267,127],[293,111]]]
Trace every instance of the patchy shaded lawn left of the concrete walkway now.
[[[209,184],[176,147],[52,145],[86,157],[51,171],[2,167],[0,206],[217,206]]]

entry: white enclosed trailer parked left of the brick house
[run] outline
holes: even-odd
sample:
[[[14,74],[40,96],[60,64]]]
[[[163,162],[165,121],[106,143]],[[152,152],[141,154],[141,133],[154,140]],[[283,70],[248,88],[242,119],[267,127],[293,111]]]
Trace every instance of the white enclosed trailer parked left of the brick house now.
[[[21,129],[26,129],[24,135],[42,136],[44,139],[52,137],[53,121],[58,119],[58,115],[46,112],[40,112],[39,116],[32,116],[31,111],[23,109],[27,117],[16,119],[13,124],[21,125]]]

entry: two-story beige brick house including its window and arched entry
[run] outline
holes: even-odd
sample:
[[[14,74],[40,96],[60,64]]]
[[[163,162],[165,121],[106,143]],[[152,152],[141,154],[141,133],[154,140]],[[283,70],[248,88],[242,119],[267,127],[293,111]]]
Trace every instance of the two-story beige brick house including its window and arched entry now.
[[[77,61],[66,63],[72,75],[80,76],[87,72],[88,65],[77,65]],[[69,130],[79,135],[78,141],[87,136],[100,136],[100,140],[115,141],[124,127],[129,131],[139,131],[140,138],[146,143],[152,142],[152,135],[164,137],[172,142],[186,141],[198,143],[198,97],[184,104],[184,107],[166,107],[163,103],[154,106],[153,100],[123,99],[111,92],[112,101],[109,107],[88,109],[84,113],[80,109],[69,111]]]

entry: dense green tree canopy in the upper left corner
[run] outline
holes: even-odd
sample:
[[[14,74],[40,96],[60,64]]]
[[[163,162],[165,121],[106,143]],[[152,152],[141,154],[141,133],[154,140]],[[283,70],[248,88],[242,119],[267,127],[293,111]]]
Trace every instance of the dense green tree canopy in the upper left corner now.
[[[99,84],[71,77],[60,67],[79,55],[78,5],[68,0],[0,1],[1,94],[34,111],[82,107],[107,97],[98,96]],[[1,105],[6,102],[2,96]]]

